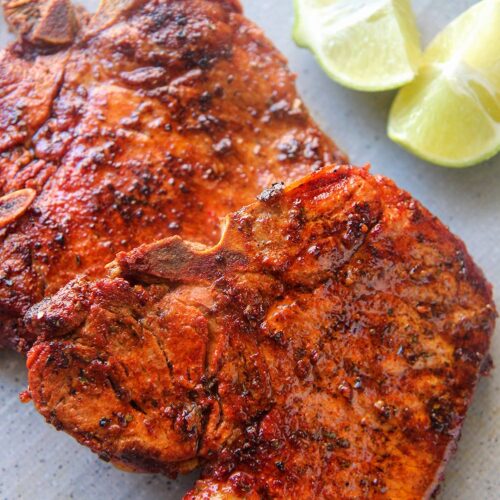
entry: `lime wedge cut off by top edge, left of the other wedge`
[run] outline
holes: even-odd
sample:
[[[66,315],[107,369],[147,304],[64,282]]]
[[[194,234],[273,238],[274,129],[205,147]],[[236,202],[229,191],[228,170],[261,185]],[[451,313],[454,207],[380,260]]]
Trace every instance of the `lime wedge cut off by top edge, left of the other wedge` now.
[[[410,0],[295,0],[293,37],[331,78],[357,90],[401,87],[421,56]]]

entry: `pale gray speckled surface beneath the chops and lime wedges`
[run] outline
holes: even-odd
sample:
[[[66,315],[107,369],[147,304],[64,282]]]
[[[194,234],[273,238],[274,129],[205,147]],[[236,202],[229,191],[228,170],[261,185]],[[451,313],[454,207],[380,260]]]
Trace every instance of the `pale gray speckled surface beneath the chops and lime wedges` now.
[[[84,2],[95,5],[93,0]],[[467,243],[496,287],[500,304],[500,157],[468,170],[426,164],[392,144],[385,121],[392,93],[360,94],[332,83],[311,55],[290,39],[292,0],[243,1],[299,75],[305,102],[355,164],[393,178]],[[413,0],[423,41],[472,0]],[[0,21],[0,43],[6,30]],[[499,48],[500,49],[500,48]],[[497,329],[498,330],[498,329]],[[500,332],[493,356],[500,360]],[[0,352],[0,499],[177,499],[193,477],[169,481],[119,472],[43,422],[17,399],[25,387],[23,360]],[[500,369],[484,379],[467,418],[459,450],[446,472],[441,499],[500,498]]]

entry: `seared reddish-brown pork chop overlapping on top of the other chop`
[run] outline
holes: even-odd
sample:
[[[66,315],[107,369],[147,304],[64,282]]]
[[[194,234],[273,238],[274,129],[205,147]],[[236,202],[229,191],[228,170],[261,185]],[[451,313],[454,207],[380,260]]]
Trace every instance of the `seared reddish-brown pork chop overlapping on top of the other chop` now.
[[[203,466],[186,498],[428,498],[489,361],[491,287],[383,177],[327,167],[120,253],[32,308],[29,390],[130,469]]]

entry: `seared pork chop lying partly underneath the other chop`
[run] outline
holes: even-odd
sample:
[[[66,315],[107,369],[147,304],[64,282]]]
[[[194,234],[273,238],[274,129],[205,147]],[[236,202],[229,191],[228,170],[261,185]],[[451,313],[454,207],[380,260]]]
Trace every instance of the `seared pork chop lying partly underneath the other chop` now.
[[[276,180],[342,159],[286,61],[236,0],[5,0],[0,54],[0,345],[117,252],[219,219]]]

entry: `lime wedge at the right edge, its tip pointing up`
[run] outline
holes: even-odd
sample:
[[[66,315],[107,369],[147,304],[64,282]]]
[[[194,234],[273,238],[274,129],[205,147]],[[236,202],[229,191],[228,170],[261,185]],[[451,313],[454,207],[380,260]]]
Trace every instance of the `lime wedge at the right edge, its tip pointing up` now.
[[[418,77],[394,101],[388,134],[448,167],[500,151],[500,0],[479,2],[434,39]]]

